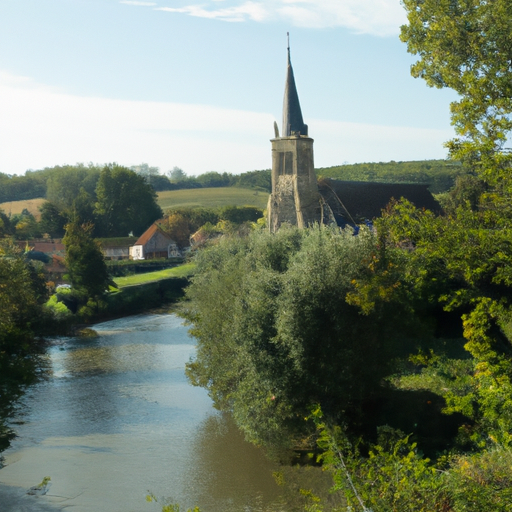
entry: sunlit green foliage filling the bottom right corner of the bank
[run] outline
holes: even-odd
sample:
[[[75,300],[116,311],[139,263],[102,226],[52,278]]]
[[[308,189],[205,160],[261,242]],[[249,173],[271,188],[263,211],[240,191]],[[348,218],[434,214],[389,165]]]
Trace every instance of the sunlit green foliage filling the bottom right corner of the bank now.
[[[512,505],[512,452],[495,447],[469,455],[424,458],[408,436],[388,427],[361,456],[340,427],[329,426],[316,408],[320,459],[351,510],[388,512],[506,511]],[[324,510],[322,503],[315,510]],[[336,509],[337,510],[337,509]]]

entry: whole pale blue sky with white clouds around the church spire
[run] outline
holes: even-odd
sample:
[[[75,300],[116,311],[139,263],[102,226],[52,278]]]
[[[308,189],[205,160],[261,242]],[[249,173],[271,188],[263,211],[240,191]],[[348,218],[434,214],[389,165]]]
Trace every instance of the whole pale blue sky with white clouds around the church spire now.
[[[0,0],[0,172],[271,165],[287,32],[315,166],[445,158],[400,0]]]

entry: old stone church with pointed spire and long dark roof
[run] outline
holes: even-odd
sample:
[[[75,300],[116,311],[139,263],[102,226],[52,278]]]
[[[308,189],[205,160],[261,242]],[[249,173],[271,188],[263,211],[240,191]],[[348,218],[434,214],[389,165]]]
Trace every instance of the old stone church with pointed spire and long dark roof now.
[[[281,135],[274,122],[272,193],[267,204],[271,232],[283,224],[304,228],[312,224],[356,226],[380,216],[392,199],[405,198],[418,208],[439,211],[428,185],[372,183],[324,179],[317,181],[313,139],[304,123],[288,44]]]

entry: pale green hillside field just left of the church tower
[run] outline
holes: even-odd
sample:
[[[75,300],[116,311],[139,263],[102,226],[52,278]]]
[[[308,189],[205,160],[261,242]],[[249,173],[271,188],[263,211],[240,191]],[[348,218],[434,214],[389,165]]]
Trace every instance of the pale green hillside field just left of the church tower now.
[[[264,210],[268,194],[249,188],[218,187],[166,190],[158,192],[162,210],[169,208],[218,208],[220,206],[255,206]]]

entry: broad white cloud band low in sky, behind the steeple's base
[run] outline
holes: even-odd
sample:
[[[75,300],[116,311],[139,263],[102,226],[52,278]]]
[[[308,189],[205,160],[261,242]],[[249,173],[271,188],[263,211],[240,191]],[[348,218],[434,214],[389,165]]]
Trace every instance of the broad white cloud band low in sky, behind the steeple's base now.
[[[0,172],[76,162],[240,173],[271,165],[274,116],[207,105],[80,97],[0,71]],[[318,167],[444,158],[449,130],[311,119]]]

